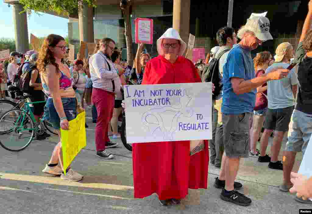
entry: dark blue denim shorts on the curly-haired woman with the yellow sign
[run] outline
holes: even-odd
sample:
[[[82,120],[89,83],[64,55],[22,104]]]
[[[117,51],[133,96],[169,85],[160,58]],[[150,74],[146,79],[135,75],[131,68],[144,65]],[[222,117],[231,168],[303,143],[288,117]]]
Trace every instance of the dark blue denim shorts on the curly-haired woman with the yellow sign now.
[[[62,103],[65,115],[68,121],[71,121],[76,118],[77,115],[77,102],[75,97],[63,97]],[[54,129],[61,129],[60,126],[60,117],[57,114],[57,111],[53,104],[53,99],[49,98],[46,101],[46,105],[44,106],[44,119],[49,121]]]

